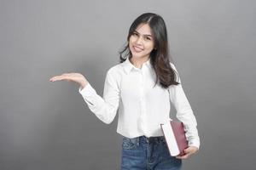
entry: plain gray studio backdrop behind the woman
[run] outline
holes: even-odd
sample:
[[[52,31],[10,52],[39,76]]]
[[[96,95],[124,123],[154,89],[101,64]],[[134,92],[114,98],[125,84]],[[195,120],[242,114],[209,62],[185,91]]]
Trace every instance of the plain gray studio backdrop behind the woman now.
[[[0,1],[0,169],[119,169],[117,116],[104,124],[73,82],[102,95],[131,22],[166,20],[172,58],[195,112],[201,150],[184,169],[253,169],[255,1]],[[172,116],[175,112],[172,111]]]

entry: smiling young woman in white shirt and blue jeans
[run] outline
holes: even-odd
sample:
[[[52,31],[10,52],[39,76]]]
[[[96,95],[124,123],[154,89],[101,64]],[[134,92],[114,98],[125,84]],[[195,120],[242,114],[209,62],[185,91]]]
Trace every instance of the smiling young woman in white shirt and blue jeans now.
[[[197,122],[169,60],[166,24],[160,15],[146,13],[133,21],[120,63],[107,72],[103,98],[79,73],[50,78],[51,82],[61,80],[79,83],[79,93],[102,122],[113,122],[119,113],[121,169],[181,169],[182,159],[199,150]],[[189,141],[184,156],[170,156],[161,131],[160,123],[169,119],[170,102]]]

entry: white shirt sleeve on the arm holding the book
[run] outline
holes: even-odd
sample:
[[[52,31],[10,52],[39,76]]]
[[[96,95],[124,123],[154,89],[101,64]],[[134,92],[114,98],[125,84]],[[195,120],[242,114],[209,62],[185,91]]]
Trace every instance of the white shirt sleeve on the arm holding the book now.
[[[175,66],[171,63],[172,68],[177,71]],[[170,92],[170,99],[177,111],[177,119],[183,122],[186,137],[189,140],[189,146],[193,145],[197,148],[200,147],[200,138],[197,131],[197,122],[195,115],[189,105],[189,100],[184,94],[183,87],[180,81],[178,85],[172,85],[168,90]]]

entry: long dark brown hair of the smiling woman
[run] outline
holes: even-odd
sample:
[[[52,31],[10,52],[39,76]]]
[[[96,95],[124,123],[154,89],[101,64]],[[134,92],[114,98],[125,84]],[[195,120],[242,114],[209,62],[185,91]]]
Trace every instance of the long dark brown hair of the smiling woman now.
[[[156,80],[154,86],[159,82],[162,88],[168,88],[170,85],[177,85],[177,72],[170,65],[168,38],[166,24],[163,18],[158,14],[145,13],[137,17],[133,21],[129,29],[127,44],[125,48],[119,52],[120,63],[124,62],[127,57],[131,58],[131,50],[129,48],[129,39],[133,32],[140,24],[148,24],[154,37],[154,49],[150,53],[150,64],[153,66]]]

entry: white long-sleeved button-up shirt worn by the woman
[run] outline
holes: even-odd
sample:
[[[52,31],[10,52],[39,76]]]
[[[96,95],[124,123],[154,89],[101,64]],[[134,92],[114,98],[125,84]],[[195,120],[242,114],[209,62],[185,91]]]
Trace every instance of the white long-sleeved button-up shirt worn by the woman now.
[[[171,62],[170,65],[177,71]],[[183,122],[189,145],[199,148],[197,122],[182,85],[161,88],[159,84],[154,87],[154,81],[150,59],[139,69],[127,58],[108,70],[103,98],[96,94],[89,82],[83,89],[79,87],[79,93],[90,111],[102,122],[113,122],[118,112],[117,133],[127,138],[163,136],[160,123],[170,119],[171,101],[177,111],[177,119]]]

